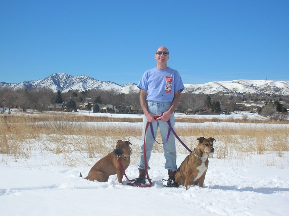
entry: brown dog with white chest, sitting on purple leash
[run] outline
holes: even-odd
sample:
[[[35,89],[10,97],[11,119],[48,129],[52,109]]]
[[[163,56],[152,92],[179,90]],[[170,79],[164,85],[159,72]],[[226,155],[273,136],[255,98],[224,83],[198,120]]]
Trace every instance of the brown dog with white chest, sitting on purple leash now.
[[[208,153],[214,153],[213,142],[216,141],[214,138],[200,137],[197,140],[199,140],[198,146],[186,156],[175,174],[175,181],[186,189],[188,185],[204,186],[209,165]]]

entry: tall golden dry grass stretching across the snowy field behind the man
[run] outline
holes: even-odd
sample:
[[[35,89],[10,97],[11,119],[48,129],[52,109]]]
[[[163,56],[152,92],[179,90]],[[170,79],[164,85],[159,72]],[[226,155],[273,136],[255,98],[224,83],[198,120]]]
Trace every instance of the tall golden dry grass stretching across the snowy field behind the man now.
[[[133,150],[131,163],[135,164],[138,161],[142,127],[141,124],[128,123],[141,121],[141,118],[89,117],[74,113],[2,115],[0,153],[17,160],[28,159],[33,151],[40,150],[59,154],[62,158],[60,164],[75,167],[87,164],[87,159],[91,160],[89,165],[92,165],[96,159],[111,152],[117,140],[129,140]],[[214,124],[204,125],[205,121],[212,121]],[[277,156],[284,157],[284,152],[289,151],[288,129],[284,123],[273,125],[269,121],[250,122],[246,119],[229,119],[227,123],[218,123],[214,119],[192,118],[176,118],[176,122],[197,123],[177,126],[175,129],[190,149],[197,146],[198,137],[215,138],[214,157],[219,159],[235,158],[241,163],[244,155],[275,152]],[[230,122],[234,122],[234,126]],[[161,141],[159,133],[157,139]],[[163,148],[161,145],[154,145],[153,151],[162,152]],[[177,152],[187,153],[179,143]],[[272,165],[272,161],[267,164]]]

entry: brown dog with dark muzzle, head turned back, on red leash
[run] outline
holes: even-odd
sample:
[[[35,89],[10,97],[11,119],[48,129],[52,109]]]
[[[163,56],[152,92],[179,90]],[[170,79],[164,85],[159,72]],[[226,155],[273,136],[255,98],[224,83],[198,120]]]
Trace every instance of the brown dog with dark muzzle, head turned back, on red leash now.
[[[91,168],[85,179],[90,181],[107,182],[109,176],[117,175],[118,183],[122,184],[123,173],[118,163],[117,157],[120,157],[123,169],[126,170],[130,163],[131,143],[129,141],[118,140],[113,152],[109,153]]]

